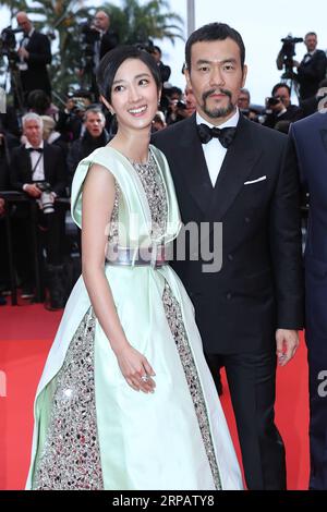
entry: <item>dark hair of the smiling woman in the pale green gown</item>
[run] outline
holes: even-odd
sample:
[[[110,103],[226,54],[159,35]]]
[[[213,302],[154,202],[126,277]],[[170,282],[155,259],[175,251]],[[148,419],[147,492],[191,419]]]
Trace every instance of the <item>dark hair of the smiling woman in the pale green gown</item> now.
[[[119,46],[102,57],[97,69],[97,84],[100,94],[111,103],[111,88],[116,73],[120,65],[128,59],[141,60],[153,75],[158,90],[161,88],[159,68],[155,59],[144,50],[135,46]]]

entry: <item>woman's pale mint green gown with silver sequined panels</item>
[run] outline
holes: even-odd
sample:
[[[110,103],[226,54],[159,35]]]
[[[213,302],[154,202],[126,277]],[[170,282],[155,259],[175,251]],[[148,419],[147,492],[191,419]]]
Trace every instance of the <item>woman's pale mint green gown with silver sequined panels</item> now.
[[[99,163],[116,180],[109,245],[167,246],[181,227],[165,156],[133,164],[111,147],[77,167],[72,217]],[[106,265],[130,343],[156,377],[154,394],[122,376],[81,277],[66,304],[37,389],[27,489],[242,489],[242,478],[194,320],[178,276],[164,265]],[[217,326],[218,331],[219,326]],[[218,331],[219,332],[219,331]],[[219,336],[219,334],[218,334]]]

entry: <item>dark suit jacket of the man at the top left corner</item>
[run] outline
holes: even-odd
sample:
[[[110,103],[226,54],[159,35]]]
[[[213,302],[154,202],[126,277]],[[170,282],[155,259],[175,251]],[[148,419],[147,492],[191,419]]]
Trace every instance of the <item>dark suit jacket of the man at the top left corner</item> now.
[[[26,46],[29,58],[26,60],[28,69],[21,71],[21,80],[24,93],[41,89],[51,95],[51,85],[47,71],[47,64],[51,63],[51,48],[47,36],[34,31]]]

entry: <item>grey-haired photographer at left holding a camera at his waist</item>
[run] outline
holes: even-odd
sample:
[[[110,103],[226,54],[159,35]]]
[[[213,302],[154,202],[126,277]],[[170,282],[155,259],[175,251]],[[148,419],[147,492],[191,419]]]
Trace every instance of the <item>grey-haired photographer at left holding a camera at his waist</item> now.
[[[26,144],[13,149],[10,175],[12,187],[25,192],[31,199],[38,202],[37,223],[43,233],[46,248],[47,277],[52,308],[62,307],[62,253],[63,215],[55,199],[63,195],[65,188],[65,162],[62,149],[43,141],[43,120],[29,112],[23,117],[23,133]],[[28,237],[29,205],[21,204],[16,210],[16,227],[20,233],[16,252],[25,296],[33,295],[32,246]]]

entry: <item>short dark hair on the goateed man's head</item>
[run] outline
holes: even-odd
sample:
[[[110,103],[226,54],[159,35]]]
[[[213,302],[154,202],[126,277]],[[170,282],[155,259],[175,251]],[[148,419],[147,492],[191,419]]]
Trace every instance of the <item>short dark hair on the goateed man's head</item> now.
[[[187,70],[191,71],[191,50],[195,42],[216,40],[222,41],[228,37],[235,41],[240,48],[241,65],[243,69],[245,61],[245,46],[241,34],[239,34],[238,31],[230,27],[226,23],[208,23],[207,25],[204,25],[197,31],[193,32],[186,41],[185,62]]]

